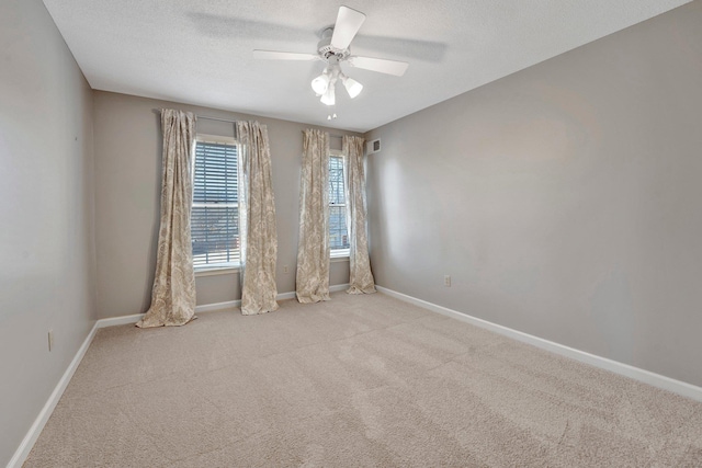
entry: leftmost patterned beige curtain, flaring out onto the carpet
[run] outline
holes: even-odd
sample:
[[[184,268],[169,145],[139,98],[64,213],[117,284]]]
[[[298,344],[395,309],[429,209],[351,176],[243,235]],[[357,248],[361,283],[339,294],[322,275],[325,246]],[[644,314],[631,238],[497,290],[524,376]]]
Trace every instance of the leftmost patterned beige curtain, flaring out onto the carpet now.
[[[190,240],[195,115],[161,110],[163,161],[161,226],[151,307],[137,327],[182,326],[195,318],[195,273]]]

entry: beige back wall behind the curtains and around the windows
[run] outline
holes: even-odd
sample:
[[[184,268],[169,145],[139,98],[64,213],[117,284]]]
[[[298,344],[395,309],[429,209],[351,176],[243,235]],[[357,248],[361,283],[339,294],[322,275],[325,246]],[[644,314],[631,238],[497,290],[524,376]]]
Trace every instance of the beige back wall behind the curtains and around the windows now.
[[[159,222],[161,129],[155,109],[172,107],[268,125],[278,222],[278,290],[295,290],[302,130],[308,125],[186,104],[94,92],[95,239],[100,318],[144,312],[151,298]],[[197,130],[233,136],[233,124],[200,118]],[[341,134],[330,130],[331,134]],[[355,134],[351,134],[355,135]],[[339,145],[339,139],[332,142]],[[283,273],[283,266],[290,273]],[[330,284],[349,282],[349,262]],[[199,276],[197,305],[240,298],[239,275]]]

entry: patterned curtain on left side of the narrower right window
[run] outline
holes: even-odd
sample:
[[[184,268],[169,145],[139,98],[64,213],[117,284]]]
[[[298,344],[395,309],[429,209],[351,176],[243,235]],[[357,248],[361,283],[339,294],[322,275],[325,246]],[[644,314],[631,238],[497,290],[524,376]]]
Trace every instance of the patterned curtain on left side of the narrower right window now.
[[[329,300],[329,134],[303,134],[295,293],[301,303],[318,303]]]

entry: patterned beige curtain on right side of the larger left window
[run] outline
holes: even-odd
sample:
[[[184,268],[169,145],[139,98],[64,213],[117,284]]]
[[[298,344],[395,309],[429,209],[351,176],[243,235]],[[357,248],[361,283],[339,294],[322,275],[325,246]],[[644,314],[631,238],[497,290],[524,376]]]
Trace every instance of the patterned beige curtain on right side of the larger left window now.
[[[278,309],[275,297],[275,201],[271,178],[268,128],[258,122],[237,122],[242,147],[239,226],[241,232],[241,313]]]

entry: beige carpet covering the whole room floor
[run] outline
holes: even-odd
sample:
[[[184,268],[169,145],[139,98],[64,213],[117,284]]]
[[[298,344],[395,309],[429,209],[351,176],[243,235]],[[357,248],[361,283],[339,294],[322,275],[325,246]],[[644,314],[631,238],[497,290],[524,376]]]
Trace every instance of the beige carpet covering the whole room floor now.
[[[701,467],[702,403],[388,296],[98,332],[26,467]]]

